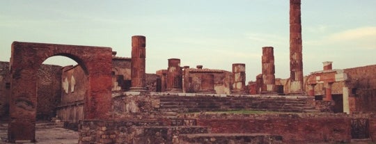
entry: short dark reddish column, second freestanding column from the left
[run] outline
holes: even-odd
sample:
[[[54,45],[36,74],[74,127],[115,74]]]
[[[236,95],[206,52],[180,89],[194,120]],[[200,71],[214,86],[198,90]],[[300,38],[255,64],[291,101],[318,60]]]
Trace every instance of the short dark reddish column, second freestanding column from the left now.
[[[169,59],[169,68],[167,69],[166,82],[166,91],[171,93],[182,93],[182,67],[180,67],[180,59]]]

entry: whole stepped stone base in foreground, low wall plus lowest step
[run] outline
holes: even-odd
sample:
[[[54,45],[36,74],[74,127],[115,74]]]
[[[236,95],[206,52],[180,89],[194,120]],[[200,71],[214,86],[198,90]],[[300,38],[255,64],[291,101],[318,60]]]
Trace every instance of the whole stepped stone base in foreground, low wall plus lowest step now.
[[[270,134],[212,134],[210,127],[197,126],[194,119],[82,120],[79,143],[282,143]]]

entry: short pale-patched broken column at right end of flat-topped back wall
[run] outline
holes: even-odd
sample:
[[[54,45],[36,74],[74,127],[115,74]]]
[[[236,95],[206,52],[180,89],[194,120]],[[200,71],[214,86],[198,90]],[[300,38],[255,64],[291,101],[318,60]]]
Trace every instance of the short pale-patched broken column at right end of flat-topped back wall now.
[[[234,63],[233,64],[233,74],[234,74],[234,82],[233,82],[233,90],[231,93],[245,95],[245,64],[244,63]]]

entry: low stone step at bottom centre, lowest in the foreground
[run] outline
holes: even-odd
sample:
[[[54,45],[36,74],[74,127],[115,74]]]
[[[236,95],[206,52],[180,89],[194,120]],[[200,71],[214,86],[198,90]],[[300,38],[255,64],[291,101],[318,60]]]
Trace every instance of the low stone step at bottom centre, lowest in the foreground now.
[[[270,134],[180,134],[173,144],[188,143],[283,143],[282,136]]]

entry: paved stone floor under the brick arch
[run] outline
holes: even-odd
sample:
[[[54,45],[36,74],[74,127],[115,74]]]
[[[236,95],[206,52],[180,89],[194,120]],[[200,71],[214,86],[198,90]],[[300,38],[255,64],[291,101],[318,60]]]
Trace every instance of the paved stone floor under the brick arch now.
[[[7,125],[0,123],[0,144],[6,144]],[[79,134],[77,131],[63,129],[61,127],[36,129],[36,144],[73,144],[78,143]],[[26,144],[26,143],[25,143]]]

